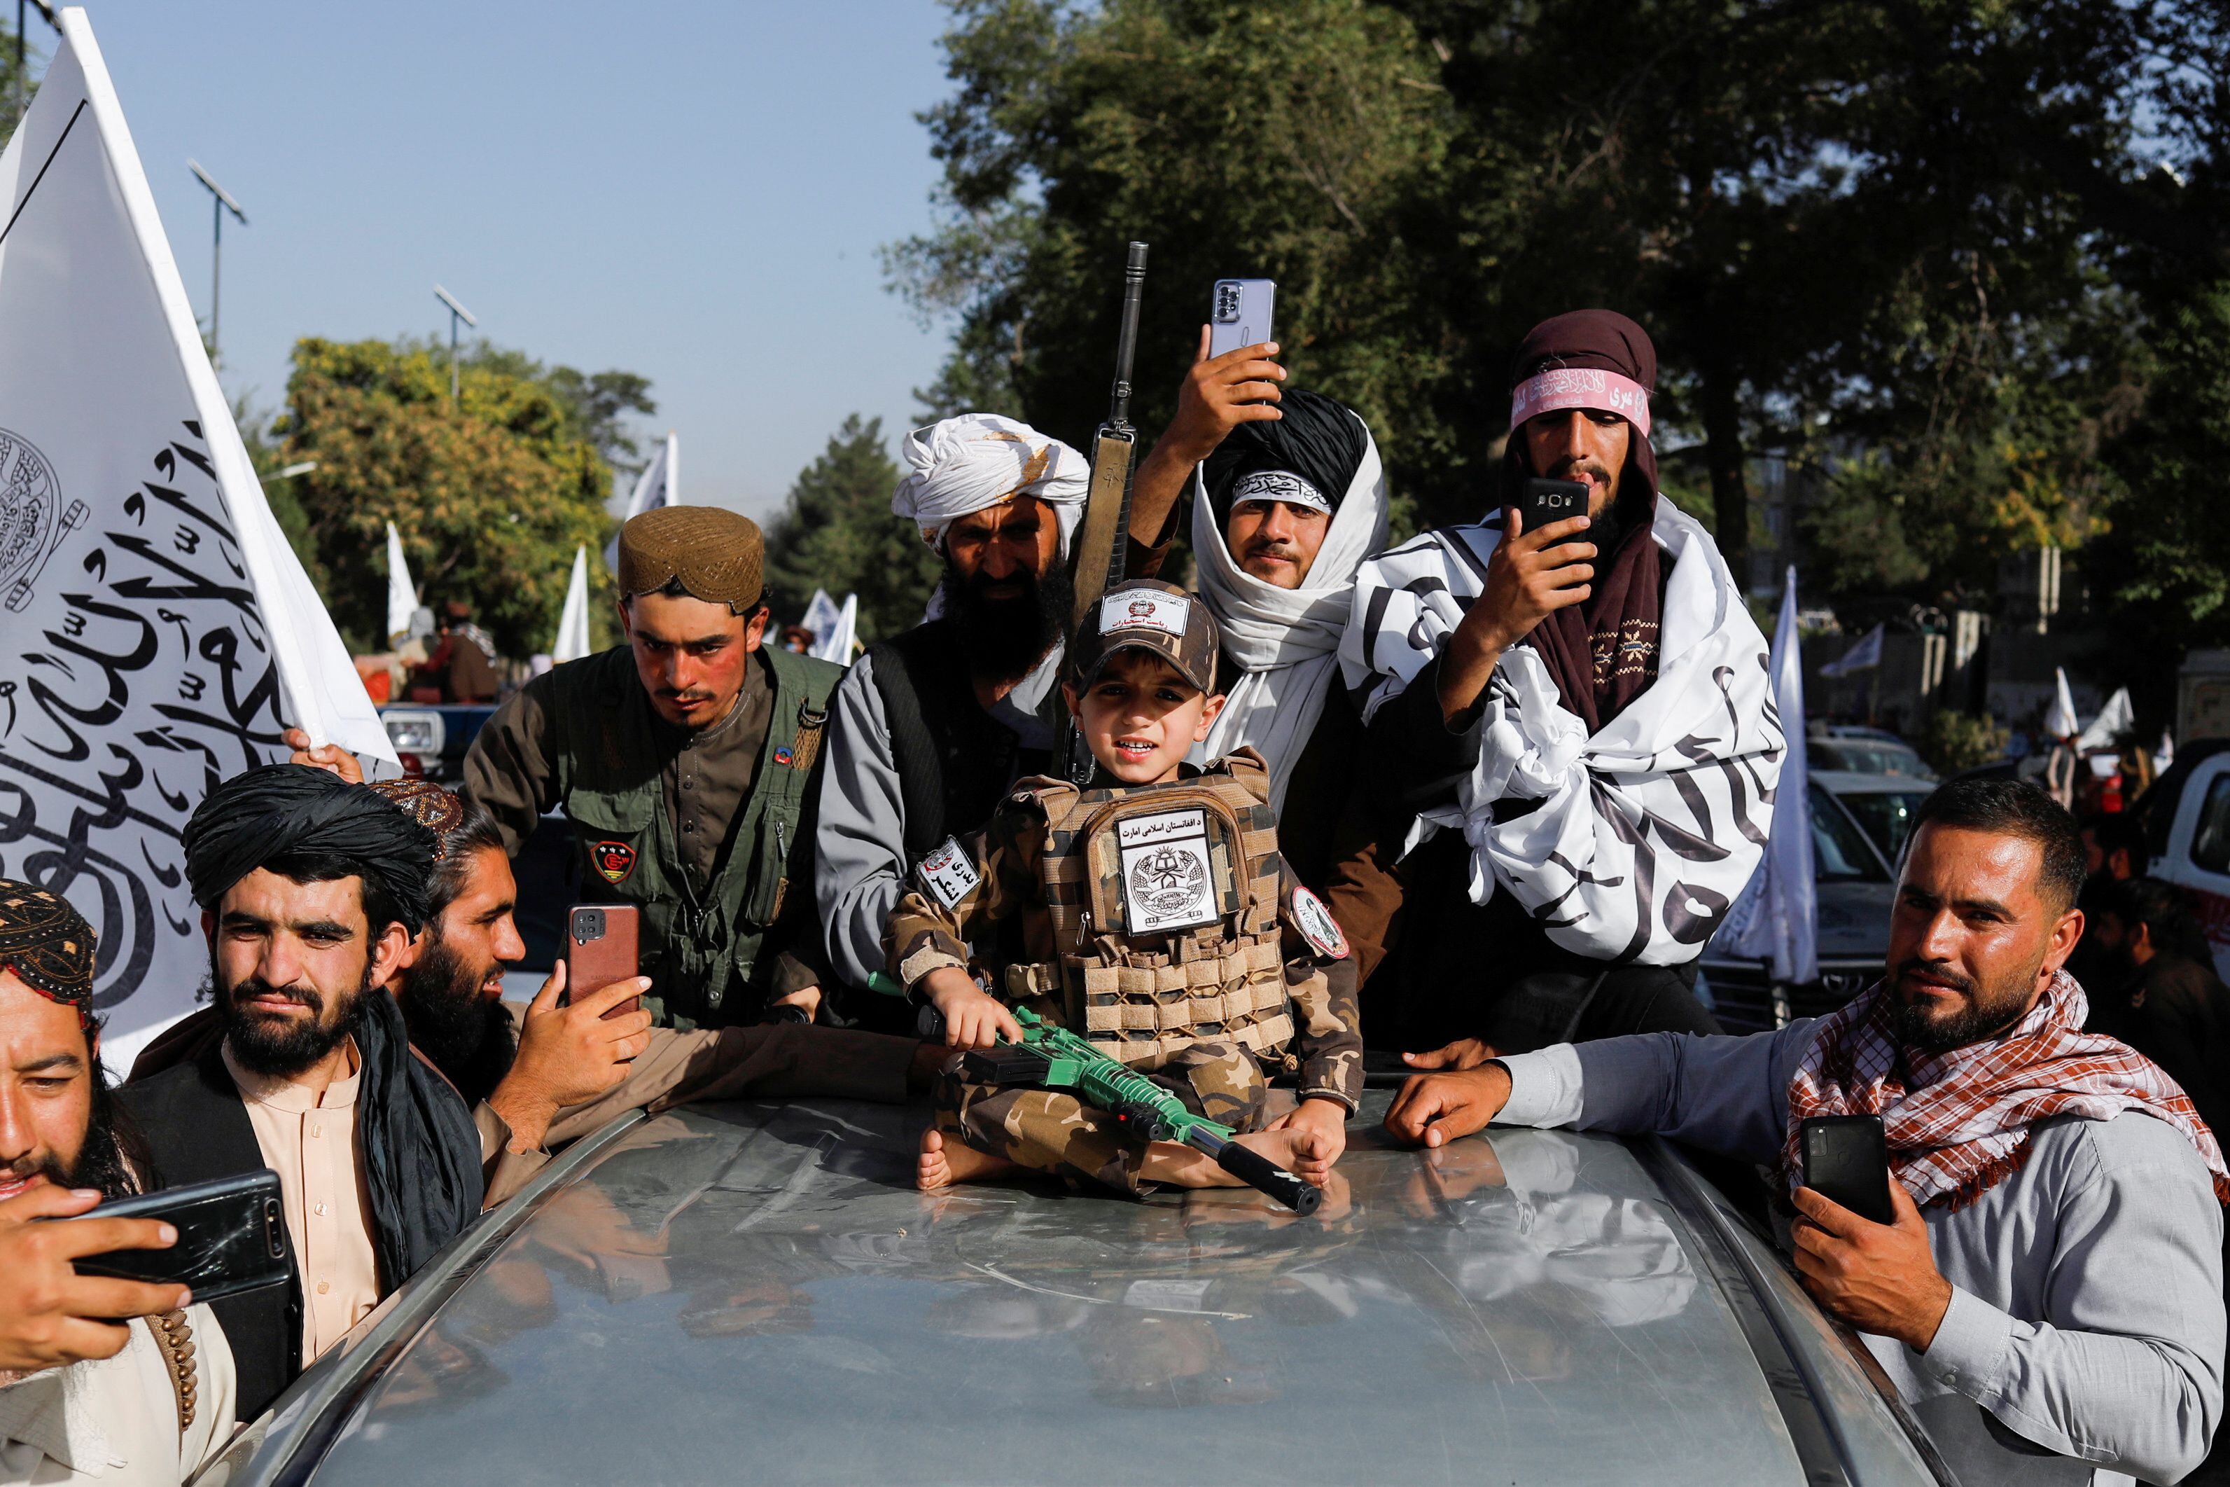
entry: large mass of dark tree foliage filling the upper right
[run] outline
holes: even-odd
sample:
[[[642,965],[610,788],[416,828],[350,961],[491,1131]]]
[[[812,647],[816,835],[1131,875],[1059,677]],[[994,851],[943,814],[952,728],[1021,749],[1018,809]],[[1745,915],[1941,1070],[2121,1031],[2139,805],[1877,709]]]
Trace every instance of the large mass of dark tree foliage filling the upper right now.
[[[1822,597],[1971,602],[2000,555],[2101,531],[2147,325],[2197,303],[2230,221],[2219,7],[952,9],[946,218],[890,254],[957,312],[934,410],[1086,435],[1140,236],[1148,430],[1209,283],[1271,276],[1296,381],[1369,417],[1418,519],[1463,519],[1496,499],[1510,348],[1610,305],[1659,346],[1657,444],[1722,546],[1751,540],[1755,455],[1824,490]],[[2185,268],[2134,272],[2156,259]]]

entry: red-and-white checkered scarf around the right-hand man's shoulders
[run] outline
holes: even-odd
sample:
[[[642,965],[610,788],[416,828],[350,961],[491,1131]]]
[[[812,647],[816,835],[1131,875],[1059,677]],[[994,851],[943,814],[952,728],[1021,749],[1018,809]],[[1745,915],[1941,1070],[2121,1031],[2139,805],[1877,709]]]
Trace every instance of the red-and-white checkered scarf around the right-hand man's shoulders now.
[[[2174,1126],[2214,1173],[2230,1204],[2230,1170],[2214,1133],[2159,1063],[2118,1039],[2083,1032],[2090,1003],[2065,970],[2011,1032],[1942,1054],[1904,1050],[1896,997],[1875,981],[1820,1023],[1788,1081],[1782,1177],[1802,1186],[1797,1133],[1813,1115],[1880,1115],[1889,1170],[1913,1202],[1965,1208],[2029,1159],[2029,1126],[2052,1115],[2103,1121],[2143,1110]],[[1909,1072],[1909,1079],[1902,1077]]]

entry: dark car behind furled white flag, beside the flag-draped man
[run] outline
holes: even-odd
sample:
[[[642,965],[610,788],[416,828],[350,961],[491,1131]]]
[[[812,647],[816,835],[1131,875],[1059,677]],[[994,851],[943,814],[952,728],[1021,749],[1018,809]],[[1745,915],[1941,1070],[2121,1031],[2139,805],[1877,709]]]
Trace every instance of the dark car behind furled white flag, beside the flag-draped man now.
[[[1820,979],[1780,985],[1759,961],[1730,959],[1717,941],[1704,945],[1701,983],[1710,992],[1713,1017],[1728,1032],[1764,1032],[1800,1017],[1826,1017],[1882,974],[1896,872],[1824,783],[1840,778],[1844,776],[1817,769],[1811,776]]]

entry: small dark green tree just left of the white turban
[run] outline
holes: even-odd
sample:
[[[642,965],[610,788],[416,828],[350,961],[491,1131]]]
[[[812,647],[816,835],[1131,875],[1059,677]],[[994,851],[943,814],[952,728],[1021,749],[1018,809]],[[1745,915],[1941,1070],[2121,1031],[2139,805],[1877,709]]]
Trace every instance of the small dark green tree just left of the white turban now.
[[[937,586],[937,555],[890,513],[899,466],[883,448],[883,419],[854,412],[798,470],[767,531],[767,602],[783,622],[805,613],[814,589],[838,604],[859,595],[859,638],[876,642],[921,622]]]

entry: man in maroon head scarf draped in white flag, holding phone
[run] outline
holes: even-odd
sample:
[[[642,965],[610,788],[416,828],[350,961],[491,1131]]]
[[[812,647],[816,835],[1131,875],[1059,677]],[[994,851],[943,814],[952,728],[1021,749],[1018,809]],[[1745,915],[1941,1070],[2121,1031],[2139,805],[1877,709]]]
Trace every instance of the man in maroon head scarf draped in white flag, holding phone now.
[[[1425,1057],[1461,1063],[1717,1030],[1695,961],[1764,856],[1784,738],[1735,575],[1657,493],[1655,381],[1623,314],[1543,321],[1512,366],[1503,511],[1363,564],[1340,664],[1392,800],[1325,898],[1389,947],[1378,1046],[1454,1039]],[[1583,484],[1588,515],[1523,531],[1530,477]]]

